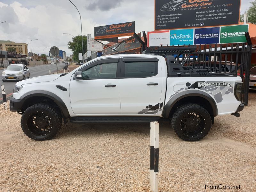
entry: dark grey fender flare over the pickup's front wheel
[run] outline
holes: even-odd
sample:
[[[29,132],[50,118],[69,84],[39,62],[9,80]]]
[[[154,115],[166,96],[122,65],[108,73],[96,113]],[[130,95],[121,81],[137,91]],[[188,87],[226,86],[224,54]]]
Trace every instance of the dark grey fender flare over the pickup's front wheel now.
[[[55,95],[52,92],[44,91],[44,90],[30,91],[30,92],[27,92],[24,95],[22,95],[20,100],[27,100],[27,99],[29,99],[31,97],[35,97],[35,96],[43,96],[43,97],[48,97],[49,99],[52,99],[59,106],[59,108],[63,114],[63,117],[70,118],[66,104],[63,102],[62,99],[60,99],[59,96]]]

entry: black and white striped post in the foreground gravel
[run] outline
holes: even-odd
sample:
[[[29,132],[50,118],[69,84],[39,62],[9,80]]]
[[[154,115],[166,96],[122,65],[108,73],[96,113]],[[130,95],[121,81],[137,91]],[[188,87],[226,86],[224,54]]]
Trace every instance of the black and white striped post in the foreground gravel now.
[[[158,191],[159,123],[150,123],[150,191]]]

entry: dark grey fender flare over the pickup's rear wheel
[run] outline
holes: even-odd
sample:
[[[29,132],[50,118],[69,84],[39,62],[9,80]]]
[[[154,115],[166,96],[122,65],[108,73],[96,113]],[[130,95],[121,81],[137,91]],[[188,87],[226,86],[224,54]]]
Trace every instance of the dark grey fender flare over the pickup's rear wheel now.
[[[197,97],[202,97],[204,99],[206,99],[207,101],[209,101],[211,107],[212,107],[212,111],[213,111],[213,116],[216,117],[218,115],[218,107],[217,104],[215,102],[215,100],[212,98],[211,95],[209,95],[208,93],[204,92],[204,91],[200,91],[200,90],[186,90],[186,91],[182,91],[177,93],[176,95],[174,95],[165,105],[164,107],[164,111],[163,111],[163,117],[168,118],[169,114],[173,108],[173,106],[181,99],[185,98],[185,97],[190,97],[190,96],[197,96]]]

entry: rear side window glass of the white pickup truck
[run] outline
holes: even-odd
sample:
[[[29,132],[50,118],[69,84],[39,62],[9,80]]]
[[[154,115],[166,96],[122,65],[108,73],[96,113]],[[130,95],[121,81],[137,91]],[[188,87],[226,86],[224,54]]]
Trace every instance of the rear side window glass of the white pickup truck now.
[[[157,75],[157,62],[125,62],[124,77],[141,78]]]

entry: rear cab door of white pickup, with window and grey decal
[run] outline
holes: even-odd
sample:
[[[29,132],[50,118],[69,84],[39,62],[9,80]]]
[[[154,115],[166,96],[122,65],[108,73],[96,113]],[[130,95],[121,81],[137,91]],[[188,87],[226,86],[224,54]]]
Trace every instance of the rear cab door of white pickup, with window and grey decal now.
[[[123,58],[120,80],[122,115],[158,116],[162,112],[162,70],[156,58]]]

